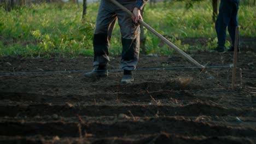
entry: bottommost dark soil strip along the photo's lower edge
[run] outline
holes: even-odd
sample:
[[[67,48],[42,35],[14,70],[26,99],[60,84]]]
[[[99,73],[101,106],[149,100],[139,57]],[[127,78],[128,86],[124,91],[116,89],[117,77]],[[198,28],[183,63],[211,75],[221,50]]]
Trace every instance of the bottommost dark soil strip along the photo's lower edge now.
[[[0,143],[253,143],[252,140],[243,137],[234,136],[178,136],[167,133],[152,134],[152,135],[132,135],[124,137],[105,137],[102,139],[96,139],[92,137],[62,137],[60,139],[49,136],[1,136]]]

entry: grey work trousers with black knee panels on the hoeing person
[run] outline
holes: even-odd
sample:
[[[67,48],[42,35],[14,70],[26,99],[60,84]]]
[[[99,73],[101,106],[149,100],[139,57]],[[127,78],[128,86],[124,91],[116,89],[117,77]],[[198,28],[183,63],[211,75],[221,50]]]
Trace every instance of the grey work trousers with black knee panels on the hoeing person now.
[[[136,0],[118,0],[118,2],[130,11],[133,11]],[[134,70],[139,57],[139,25],[132,21],[129,14],[108,0],[101,0],[100,7],[98,8],[93,39],[93,64],[98,66],[106,65],[109,62],[109,42],[117,19],[123,45],[120,67],[125,70]]]

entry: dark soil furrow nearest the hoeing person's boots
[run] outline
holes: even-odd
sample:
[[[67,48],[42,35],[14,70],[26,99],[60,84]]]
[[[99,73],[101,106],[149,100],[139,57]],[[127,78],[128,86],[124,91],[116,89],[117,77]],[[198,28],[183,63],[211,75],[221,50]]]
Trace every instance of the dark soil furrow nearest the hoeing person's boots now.
[[[0,92],[0,100],[13,100],[13,101],[32,101],[37,103],[46,103],[53,101],[101,101],[101,100],[129,100],[129,101],[152,101],[154,99],[177,99],[177,100],[212,100],[216,101],[218,98],[196,96],[188,93],[187,91],[141,91],[139,93],[98,93],[97,94],[69,94],[69,95],[45,95],[36,93],[22,93],[22,92]]]

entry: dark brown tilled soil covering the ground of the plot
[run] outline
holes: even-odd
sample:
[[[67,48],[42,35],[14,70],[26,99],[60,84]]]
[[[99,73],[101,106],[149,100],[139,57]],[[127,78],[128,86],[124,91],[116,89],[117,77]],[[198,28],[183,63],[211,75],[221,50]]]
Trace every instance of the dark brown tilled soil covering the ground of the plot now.
[[[202,73],[178,54],[141,55],[130,85],[120,84],[120,57],[101,79],[82,77],[91,57],[1,57],[0,143],[255,143],[250,46],[237,55],[234,90],[231,52],[189,53],[207,64]]]

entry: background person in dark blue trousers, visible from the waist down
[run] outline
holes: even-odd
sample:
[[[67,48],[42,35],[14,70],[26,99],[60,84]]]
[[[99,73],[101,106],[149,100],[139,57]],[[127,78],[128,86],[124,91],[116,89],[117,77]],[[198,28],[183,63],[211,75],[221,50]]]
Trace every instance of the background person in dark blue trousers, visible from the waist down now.
[[[218,37],[218,47],[216,50],[220,53],[225,52],[226,27],[232,43],[228,51],[234,51],[235,33],[238,26],[237,12],[240,0],[222,0],[219,4],[219,15],[216,20],[216,33]],[[239,49],[238,49],[239,50]]]

